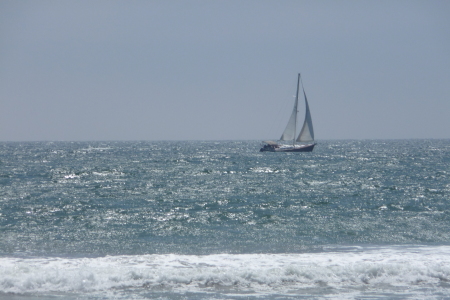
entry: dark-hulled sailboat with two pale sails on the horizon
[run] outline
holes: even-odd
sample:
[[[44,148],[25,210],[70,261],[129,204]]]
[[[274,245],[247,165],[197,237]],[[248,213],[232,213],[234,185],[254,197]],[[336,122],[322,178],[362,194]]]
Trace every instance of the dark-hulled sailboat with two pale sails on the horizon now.
[[[289,118],[286,129],[281,135],[280,141],[292,141],[292,144],[278,144],[273,141],[264,141],[261,149],[259,151],[270,151],[270,152],[311,152],[314,149],[316,143],[314,142],[314,130],[312,126],[311,113],[309,111],[308,100],[306,99],[305,89],[302,90],[303,96],[305,98],[306,115],[305,121],[303,122],[303,127],[300,130],[300,134],[296,138],[296,128],[297,128],[297,114],[298,114],[298,93],[300,90],[301,76],[298,74],[297,80],[297,95],[295,97],[294,109],[292,110],[291,117]],[[296,144],[299,143],[299,144]]]

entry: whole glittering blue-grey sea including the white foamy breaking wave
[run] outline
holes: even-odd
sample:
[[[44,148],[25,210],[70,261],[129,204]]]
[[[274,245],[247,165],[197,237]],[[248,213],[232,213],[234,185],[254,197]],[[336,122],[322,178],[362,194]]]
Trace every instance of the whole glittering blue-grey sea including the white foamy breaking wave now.
[[[450,140],[0,143],[0,298],[450,298]]]

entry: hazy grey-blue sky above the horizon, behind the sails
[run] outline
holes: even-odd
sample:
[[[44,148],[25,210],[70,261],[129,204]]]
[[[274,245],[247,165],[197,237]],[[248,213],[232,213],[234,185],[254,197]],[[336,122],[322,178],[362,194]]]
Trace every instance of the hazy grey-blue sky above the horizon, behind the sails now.
[[[318,140],[450,138],[449,16],[446,0],[2,0],[0,140],[277,139],[298,72]]]

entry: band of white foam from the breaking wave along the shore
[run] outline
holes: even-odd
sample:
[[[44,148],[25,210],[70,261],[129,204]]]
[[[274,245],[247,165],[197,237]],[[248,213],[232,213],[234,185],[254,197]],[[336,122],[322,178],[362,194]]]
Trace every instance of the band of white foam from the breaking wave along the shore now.
[[[0,292],[90,293],[112,289],[292,294],[440,288],[450,295],[450,247],[351,248],[303,254],[0,258]]]

